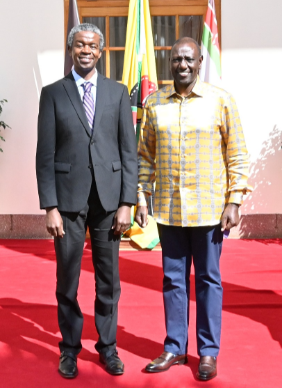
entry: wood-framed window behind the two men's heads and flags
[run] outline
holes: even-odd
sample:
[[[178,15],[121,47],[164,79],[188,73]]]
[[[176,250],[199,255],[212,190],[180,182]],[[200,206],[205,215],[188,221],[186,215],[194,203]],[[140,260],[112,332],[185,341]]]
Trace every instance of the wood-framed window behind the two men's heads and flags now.
[[[65,30],[69,0],[65,0]],[[77,0],[81,22],[96,24],[103,32],[105,48],[97,70],[122,81],[128,0]],[[215,0],[220,44],[220,5]],[[152,33],[156,56],[158,86],[172,83],[169,52],[174,41],[191,36],[201,44],[208,0],[149,0]]]

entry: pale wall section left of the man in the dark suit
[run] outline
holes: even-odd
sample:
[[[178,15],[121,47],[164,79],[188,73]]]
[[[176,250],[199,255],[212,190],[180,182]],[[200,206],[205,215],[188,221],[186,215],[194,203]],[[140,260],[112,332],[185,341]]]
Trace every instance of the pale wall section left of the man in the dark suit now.
[[[63,0],[1,0],[0,214],[39,214],[35,148],[39,93],[63,77]]]

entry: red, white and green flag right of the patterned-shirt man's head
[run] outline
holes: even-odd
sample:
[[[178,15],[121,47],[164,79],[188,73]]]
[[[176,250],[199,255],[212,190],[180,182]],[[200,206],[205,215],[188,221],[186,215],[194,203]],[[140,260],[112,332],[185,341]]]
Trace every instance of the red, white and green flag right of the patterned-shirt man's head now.
[[[201,40],[201,54],[204,57],[200,71],[201,81],[215,86],[221,86],[222,70],[220,65],[215,0],[208,0],[208,10],[206,12],[203,38]]]

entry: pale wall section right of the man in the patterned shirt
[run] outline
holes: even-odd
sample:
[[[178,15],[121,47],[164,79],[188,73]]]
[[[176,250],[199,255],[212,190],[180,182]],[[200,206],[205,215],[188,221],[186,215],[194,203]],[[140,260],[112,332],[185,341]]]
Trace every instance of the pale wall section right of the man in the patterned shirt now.
[[[222,80],[251,155],[242,214],[282,213],[282,1],[222,0]]]

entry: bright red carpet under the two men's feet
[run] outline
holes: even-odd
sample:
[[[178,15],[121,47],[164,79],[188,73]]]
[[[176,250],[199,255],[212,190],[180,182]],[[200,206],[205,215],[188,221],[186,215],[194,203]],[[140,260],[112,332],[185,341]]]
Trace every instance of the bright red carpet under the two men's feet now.
[[[147,362],[163,352],[160,255],[160,251],[120,251],[117,346],[126,373],[110,376],[94,349],[94,276],[86,244],[78,294],[85,316],[83,350],[78,356],[78,377],[64,380],[57,372],[60,334],[53,242],[0,240],[1,387],[281,387],[282,240],[224,240],[222,348],[218,376],[210,382],[196,378],[194,295],[189,363],[165,373],[144,373]]]

